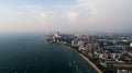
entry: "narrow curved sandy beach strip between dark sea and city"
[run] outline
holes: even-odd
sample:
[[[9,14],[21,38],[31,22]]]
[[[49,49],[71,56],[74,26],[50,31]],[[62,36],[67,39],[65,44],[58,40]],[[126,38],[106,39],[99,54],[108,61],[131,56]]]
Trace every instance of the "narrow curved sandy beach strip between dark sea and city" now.
[[[88,64],[90,64],[98,73],[103,73],[94,62],[91,62],[87,57],[85,57],[82,53],[78,52],[77,50],[68,47],[68,46],[65,46],[65,45],[62,45],[64,47],[67,47],[68,49],[77,52]]]

